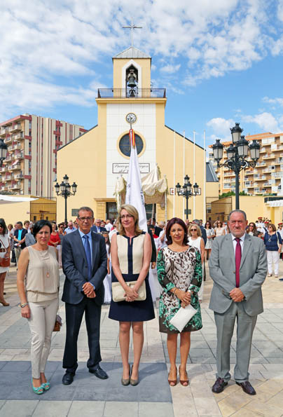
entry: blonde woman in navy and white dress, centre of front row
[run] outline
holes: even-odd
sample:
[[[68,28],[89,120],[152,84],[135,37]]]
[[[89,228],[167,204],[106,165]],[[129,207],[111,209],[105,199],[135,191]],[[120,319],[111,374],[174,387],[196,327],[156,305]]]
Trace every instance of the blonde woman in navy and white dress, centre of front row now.
[[[109,318],[118,320],[119,343],[123,362],[123,385],[137,385],[139,361],[144,344],[144,322],[154,318],[153,301],[149,287],[151,262],[151,238],[139,228],[137,209],[122,205],[118,214],[118,233],[111,239],[112,282],[120,282],[125,290],[125,301],[111,301]],[[134,287],[126,282],[137,281]],[[135,301],[139,287],[145,281],[146,299]],[[134,363],[129,364],[130,329],[134,348]]]

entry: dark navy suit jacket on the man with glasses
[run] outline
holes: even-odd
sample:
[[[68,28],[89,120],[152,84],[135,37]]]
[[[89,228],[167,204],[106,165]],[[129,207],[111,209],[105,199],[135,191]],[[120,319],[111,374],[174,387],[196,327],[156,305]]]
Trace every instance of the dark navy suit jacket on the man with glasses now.
[[[88,261],[85,248],[78,231],[64,236],[62,245],[62,265],[66,275],[62,301],[78,304],[83,299],[82,287],[90,281],[95,285],[96,297],[93,299],[101,306],[104,301],[103,280],[107,275],[107,254],[105,240],[102,235],[91,233],[92,236],[92,278],[88,279]]]

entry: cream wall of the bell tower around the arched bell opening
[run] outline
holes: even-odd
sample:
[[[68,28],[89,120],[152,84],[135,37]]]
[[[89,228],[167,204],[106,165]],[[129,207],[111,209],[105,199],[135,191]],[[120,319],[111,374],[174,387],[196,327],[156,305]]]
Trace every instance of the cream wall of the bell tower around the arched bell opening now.
[[[114,58],[113,59],[113,88],[125,88],[122,85],[122,69],[129,58]],[[133,58],[134,62],[141,67],[141,85],[142,88],[151,88],[151,59],[150,58]]]

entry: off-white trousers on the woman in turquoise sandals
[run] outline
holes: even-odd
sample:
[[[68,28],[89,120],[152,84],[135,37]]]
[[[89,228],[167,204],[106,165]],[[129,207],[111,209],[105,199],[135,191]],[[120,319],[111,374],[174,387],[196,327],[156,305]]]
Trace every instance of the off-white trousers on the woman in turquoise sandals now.
[[[59,299],[29,303],[31,317],[28,319],[28,322],[32,333],[31,360],[33,378],[40,378],[40,373],[45,370],[58,304]]]

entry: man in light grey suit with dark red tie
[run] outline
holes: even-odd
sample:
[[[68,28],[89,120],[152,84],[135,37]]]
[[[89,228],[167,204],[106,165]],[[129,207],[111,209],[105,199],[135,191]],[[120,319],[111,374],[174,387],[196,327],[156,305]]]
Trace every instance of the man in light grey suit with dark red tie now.
[[[212,392],[222,392],[230,380],[230,342],[237,317],[237,346],[234,378],[249,395],[251,340],[257,315],[263,312],[261,286],[267,273],[263,240],[245,233],[247,217],[242,210],[229,215],[228,235],[212,245],[209,273],[214,281],[209,308],[214,310],[217,329],[216,381]]]

